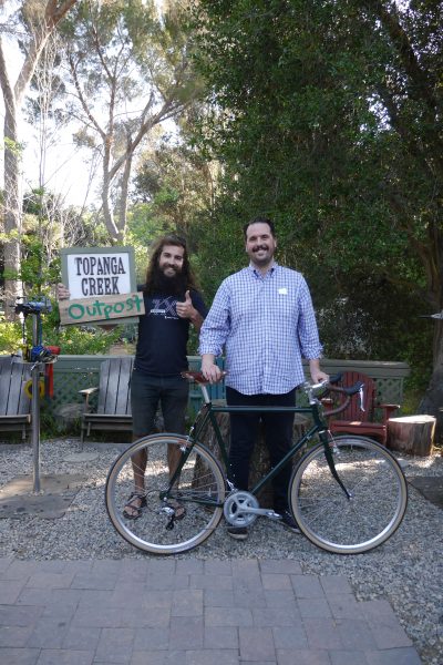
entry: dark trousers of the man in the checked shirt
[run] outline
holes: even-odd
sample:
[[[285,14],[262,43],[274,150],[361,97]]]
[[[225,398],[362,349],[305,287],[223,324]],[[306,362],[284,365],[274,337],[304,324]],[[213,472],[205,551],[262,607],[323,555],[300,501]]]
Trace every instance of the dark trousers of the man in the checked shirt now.
[[[226,388],[229,406],[293,407],[296,389],[285,395],[243,395]],[[231,480],[239,490],[248,489],[249,460],[258,437],[259,422],[264,423],[265,441],[274,467],[285,457],[292,442],[293,413],[231,413],[229,462]],[[274,509],[281,512],[288,508],[290,463],[272,481]]]

